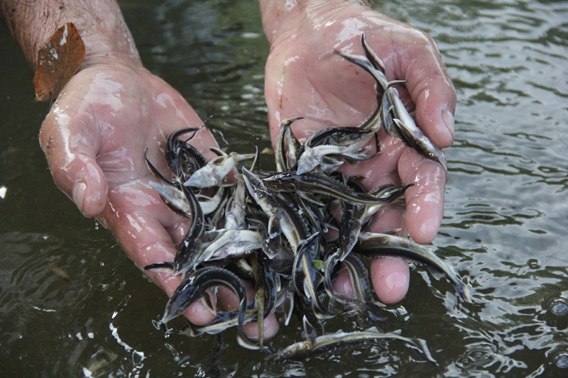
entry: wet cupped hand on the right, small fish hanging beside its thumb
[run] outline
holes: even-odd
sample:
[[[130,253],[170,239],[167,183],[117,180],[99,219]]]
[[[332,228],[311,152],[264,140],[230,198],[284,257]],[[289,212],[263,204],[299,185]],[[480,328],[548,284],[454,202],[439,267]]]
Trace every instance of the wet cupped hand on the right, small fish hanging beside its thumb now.
[[[268,8],[268,6],[267,6]],[[364,55],[361,35],[381,57],[389,80],[398,86],[417,125],[439,148],[454,140],[456,94],[432,39],[420,30],[381,13],[346,1],[303,1],[286,9],[282,22],[267,23],[271,43],[266,63],[266,102],[273,140],[280,121],[294,123],[297,138],[329,126],[357,126],[378,106],[374,81],[360,67],[334,51]],[[447,172],[439,163],[379,133],[381,153],[344,173],[364,177],[368,189],[382,184],[410,184],[405,209],[390,206],[376,215],[373,231],[403,228],[417,243],[430,243],[442,222]],[[385,303],[403,299],[408,291],[407,262],[382,258],[371,262],[376,294]],[[350,291],[349,279],[339,276],[337,288]]]

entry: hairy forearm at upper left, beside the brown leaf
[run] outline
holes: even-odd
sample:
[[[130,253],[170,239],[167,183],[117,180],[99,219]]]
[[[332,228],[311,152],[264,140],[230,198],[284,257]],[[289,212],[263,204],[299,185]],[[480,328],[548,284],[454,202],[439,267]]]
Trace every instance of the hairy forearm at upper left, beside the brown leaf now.
[[[141,65],[132,35],[115,0],[0,0],[2,20],[35,67],[50,35],[72,22],[85,45],[82,68],[108,60]]]

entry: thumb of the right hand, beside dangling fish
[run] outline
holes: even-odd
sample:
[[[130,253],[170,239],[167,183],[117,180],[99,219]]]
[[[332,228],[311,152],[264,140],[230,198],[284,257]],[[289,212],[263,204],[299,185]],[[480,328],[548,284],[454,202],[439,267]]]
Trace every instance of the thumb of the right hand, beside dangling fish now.
[[[442,57],[432,38],[420,30],[413,30],[407,38],[414,38],[406,48],[402,77],[415,104],[417,124],[439,148],[454,143],[454,112],[456,91]]]

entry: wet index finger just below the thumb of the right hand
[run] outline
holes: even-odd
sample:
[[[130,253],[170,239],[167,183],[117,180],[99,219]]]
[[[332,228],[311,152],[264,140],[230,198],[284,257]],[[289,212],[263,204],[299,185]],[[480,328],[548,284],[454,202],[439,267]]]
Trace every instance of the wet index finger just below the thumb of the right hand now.
[[[416,243],[430,243],[442,224],[447,172],[438,162],[410,148],[400,157],[398,169],[403,183],[414,183],[405,193],[410,238]]]

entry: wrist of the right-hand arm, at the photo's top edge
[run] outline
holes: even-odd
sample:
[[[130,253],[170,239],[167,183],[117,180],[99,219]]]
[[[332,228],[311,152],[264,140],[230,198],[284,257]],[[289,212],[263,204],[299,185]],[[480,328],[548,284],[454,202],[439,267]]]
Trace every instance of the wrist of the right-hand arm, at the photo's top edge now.
[[[260,4],[264,33],[272,45],[276,38],[292,37],[306,21],[333,20],[333,15],[346,7],[368,10],[373,0],[260,0]]]

